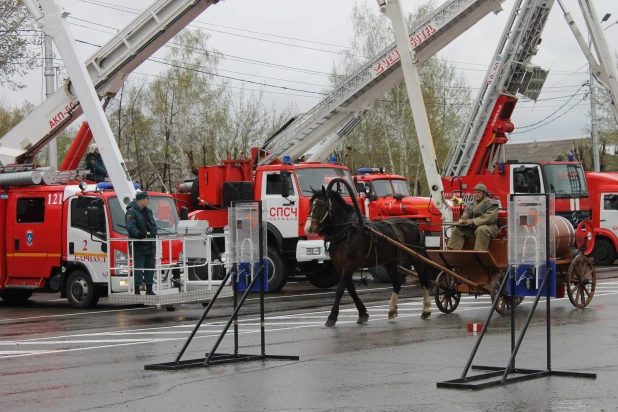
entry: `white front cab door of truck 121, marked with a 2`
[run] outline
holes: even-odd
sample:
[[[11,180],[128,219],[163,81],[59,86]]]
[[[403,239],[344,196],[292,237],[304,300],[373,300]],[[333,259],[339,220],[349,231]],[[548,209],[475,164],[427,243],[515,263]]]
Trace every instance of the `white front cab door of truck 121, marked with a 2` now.
[[[108,270],[107,218],[105,205],[99,197],[73,197],[69,200],[69,227],[67,228],[67,261],[81,262],[95,283],[105,282]],[[98,226],[88,227],[89,206],[99,210]]]

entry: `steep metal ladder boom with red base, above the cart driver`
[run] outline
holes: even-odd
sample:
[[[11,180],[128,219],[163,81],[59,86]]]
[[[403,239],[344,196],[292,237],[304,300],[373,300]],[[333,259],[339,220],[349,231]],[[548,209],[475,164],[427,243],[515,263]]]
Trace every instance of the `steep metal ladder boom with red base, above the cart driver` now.
[[[540,36],[553,0],[517,0],[498,43],[470,118],[451,148],[445,176],[481,175],[493,168],[506,133],[513,131],[511,114],[517,96],[536,100],[548,72],[534,66]]]

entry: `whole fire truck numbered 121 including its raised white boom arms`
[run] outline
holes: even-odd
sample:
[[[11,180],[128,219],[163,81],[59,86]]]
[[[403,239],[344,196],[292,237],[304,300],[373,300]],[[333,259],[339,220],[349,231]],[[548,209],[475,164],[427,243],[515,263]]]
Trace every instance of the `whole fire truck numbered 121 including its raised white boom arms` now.
[[[130,267],[126,241],[112,241],[126,238],[125,207],[135,197],[136,188],[103,106],[120,90],[131,71],[216,3],[157,0],[97,50],[84,66],[66,21],[67,13],[61,13],[54,2],[39,5],[24,0],[39,27],[54,39],[70,79],[0,138],[3,300],[23,301],[34,292],[60,292],[72,306],[85,308],[95,305],[108,292],[129,295],[122,293],[132,288],[129,271],[110,267]],[[101,99],[106,100],[104,105]],[[89,126],[80,130],[60,170],[37,168],[36,154],[82,113],[88,117]],[[84,171],[73,170],[93,135],[109,173],[109,183],[89,184],[83,181]],[[161,229],[159,233],[162,237],[175,233],[179,219],[171,196],[150,192],[150,198],[149,207]],[[175,265],[183,240],[157,242],[166,243],[158,254],[160,264]],[[169,286],[171,279],[166,279],[165,292],[178,292],[178,287]],[[158,284],[157,292],[162,294],[163,287]],[[158,304],[158,295],[130,295],[125,303],[147,303],[150,299]],[[176,301],[182,300],[179,297]]]

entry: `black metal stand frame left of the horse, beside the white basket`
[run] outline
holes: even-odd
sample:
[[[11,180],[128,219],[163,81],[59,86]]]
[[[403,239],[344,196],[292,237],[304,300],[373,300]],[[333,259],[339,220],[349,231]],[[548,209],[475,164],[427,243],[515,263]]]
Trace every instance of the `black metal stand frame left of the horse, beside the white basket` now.
[[[261,224],[261,222],[262,222],[262,202],[261,201],[258,201],[258,202],[233,202],[233,206],[234,206],[235,203],[253,203],[253,204],[257,205],[257,209],[259,211],[258,212],[259,213],[259,220],[258,220],[258,222],[260,222],[260,224],[258,226],[259,226],[259,259],[260,259],[259,262],[260,262],[260,268],[258,270],[258,273],[251,280],[251,283],[247,287],[247,290],[243,293],[242,297],[240,298],[240,302],[238,302],[238,287],[237,287],[237,283],[236,283],[237,282],[237,276],[232,276],[232,272],[231,271],[226,273],[224,280],[221,282],[221,285],[219,286],[219,288],[217,289],[214,297],[212,298],[212,300],[208,304],[208,307],[206,308],[206,310],[204,310],[204,313],[202,314],[200,320],[198,321],[198,323],[193,328],[193,331],[191,332],[191,334],[187,338],[185,344],[183,345],[182,349],[180,350],[180,353],[176,357],[176,360],[174,360],[173,362],[167,362],[167,363],[158,363],[158,364],[145,365],[144,369],[146,369],[146,370],[178,370],[178,369],[189,369],[189,368],[197,368],[197,367],[209,367],[211,365],[221,365],[221,364],[225,364],[225,363],[248,362],[248,361],[267,360],[267,359],[300,360],[300,357],[298,357],[298,356],[267,355],[266,354],[266,338],[265,338],[265,328],[264,328],[264,281],[262,280],[262,278],[264,276],[264,247],[263,247],[263,245],[264,245],[264,243],[263,243],[264,229],[263,229],[262,224]],[[253,265],[253,262],[251,262],[251,265]],[[234,296],[234,312],[232,313],[232,315],[228,319],[225,327],[221,331],[219,337],[217,338],[217,341],[212,346],[210,352],[206,353],[206,357],[198,358],[198,359],[190,359],[190,360],[181,360],[182,356],[184,355],[185,351],[189,347],[189,344],[191,343],[191,341],[195,337],[195,334],[199,330],[202,322],[204,321],[204,319],[206,319],[206,316],[208,315],[208,312],[210,311],[210,308],[212,308],[214,302],[219,297],[219,293],[223,289],[225,283],[227,283],[227,280],[230,278],[230,276],[232,277],[232,283],[234,284],[234,287],[233,287],[233,290],[234,290],[234,295],[233,295]],[[253,289],[253,286],[254,286],[256,281],[260,282],[259,284],[260,284],[260,348],[261,348],[261,350],[260,350],[260,354],[257,354],[257,355],[255,355],[255,354],[239,354],[238,353],[238,312],[242,308],[242,305],[245,303],[245,300],[249,296],[249,293]],[[221,341],[223,340],[223,338],[227,334],[227,331],[229,330],[229,328],[232,325],[232,323],[234,323],[234,329],[233,329],[234,330],[234,333],[233,333],[233,335],[234,335],[234,353],[216,353],[217,348],[221,344]]]

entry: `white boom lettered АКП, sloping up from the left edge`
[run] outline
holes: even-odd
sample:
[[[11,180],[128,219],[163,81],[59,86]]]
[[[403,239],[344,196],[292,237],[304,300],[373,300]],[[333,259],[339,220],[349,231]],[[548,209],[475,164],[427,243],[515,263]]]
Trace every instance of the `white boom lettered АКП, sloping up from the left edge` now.
[[[144,10],[86,61],[86,72],[98,97],[109,99],[116,95],[135,68],[218,1],[158,0]],[[0,138],[0,163],[32,162],[45,144],[82,112],[74,81],[68,79],[64,87]]]

